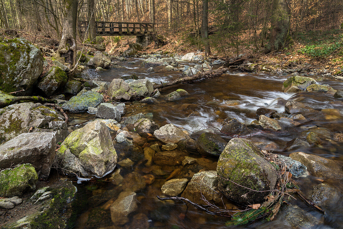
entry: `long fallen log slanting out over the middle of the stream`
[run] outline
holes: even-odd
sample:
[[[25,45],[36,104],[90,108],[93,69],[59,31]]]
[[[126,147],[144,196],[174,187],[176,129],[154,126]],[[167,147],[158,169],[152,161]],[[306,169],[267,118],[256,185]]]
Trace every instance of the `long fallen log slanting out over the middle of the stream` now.
[[[154,89],[169,87],[169,86],[173,86],[173,85],[179,84],[179,83],[191,82],[191,81],[198,80],[201,78],[212,78],[212,77],[221,76],[227,70],[229,70],[229,69],[228,68],[219,68],[216,70],[208,70],[208,71],[204,71],[204,72],[198,72],[197,74],[195,74],[193,76],[186,76],[184,78],[179,78],[179,79],[176,79],[176,80],[171,81],[171,82],[166,82],[166,83],[154,85]]]

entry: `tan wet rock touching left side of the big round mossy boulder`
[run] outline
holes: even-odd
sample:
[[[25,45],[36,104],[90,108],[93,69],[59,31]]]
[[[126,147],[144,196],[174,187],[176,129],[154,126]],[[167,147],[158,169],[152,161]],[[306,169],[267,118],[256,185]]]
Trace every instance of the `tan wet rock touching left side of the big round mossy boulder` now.
[[[194,174],[182,193],[182,197],[199,204],[204,204],[202,198],[208,201],[218,201],[221,195],[218,190],[216,171],[202,171]]]

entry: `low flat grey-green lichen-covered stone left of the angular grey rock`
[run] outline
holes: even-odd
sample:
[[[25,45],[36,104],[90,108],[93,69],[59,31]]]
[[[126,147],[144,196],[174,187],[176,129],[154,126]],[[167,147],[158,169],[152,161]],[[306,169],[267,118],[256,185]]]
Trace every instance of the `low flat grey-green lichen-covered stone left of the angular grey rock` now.
[[[104,97],[101,94],[87,91],[80,96],[73,96],[62,105],[62,109],[69,112],[83,112],[87,111],[89,106],[97,107],[103,101]]]

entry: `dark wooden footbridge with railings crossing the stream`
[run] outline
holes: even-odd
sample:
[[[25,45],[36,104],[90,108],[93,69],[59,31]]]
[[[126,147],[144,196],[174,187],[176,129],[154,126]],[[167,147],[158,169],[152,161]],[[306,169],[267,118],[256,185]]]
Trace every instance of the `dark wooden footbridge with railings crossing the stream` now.
[[[88,27],[88,21],[81,22]],[[100,36],[144,36],[155,32],[154,23],[96,21],[95,30]]]

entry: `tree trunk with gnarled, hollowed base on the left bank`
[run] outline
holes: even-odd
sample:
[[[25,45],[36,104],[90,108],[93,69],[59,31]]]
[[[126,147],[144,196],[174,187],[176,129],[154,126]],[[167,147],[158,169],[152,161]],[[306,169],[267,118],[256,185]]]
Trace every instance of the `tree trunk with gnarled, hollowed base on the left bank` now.
[[[76,64],[76,17],[78,0],[63,0],[64,24],[62,38],[57,50],[57,57],[64,57],[66,63]]]

